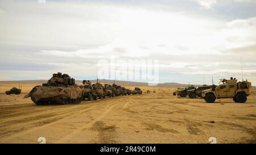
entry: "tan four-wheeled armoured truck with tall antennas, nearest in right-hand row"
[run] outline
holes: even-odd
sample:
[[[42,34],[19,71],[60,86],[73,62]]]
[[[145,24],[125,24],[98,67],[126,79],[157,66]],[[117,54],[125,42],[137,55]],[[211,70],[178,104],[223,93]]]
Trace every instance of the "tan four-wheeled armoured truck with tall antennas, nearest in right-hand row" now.
[[[221,83],[222,82],[222,83]],[[207,103],[214,103],[216,99],[233,98],[236,103],[245,103],[250,95],[251,82],[237,82],[236,78],[220,79],[219,85],[204,90],[202,97]]]

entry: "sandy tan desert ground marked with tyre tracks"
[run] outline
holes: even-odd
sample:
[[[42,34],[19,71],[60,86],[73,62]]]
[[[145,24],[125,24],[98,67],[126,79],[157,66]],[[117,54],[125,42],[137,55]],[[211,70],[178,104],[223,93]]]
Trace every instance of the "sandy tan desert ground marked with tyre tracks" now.
[[[24,95],[5,95],[0,85],[0,143],[256,143],[256,90],[246,103],[178,98],[174,87],[143,86],[156,93],[75,105],[36,106]],[[127,86],[131,89],[133,86]]]

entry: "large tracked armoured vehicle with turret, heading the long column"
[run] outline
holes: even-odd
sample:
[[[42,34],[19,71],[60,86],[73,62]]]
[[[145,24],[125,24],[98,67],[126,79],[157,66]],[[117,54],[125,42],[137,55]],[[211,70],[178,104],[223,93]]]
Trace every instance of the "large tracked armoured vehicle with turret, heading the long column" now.
[[[42,86],[35,86],[24,98],[31,97],[37,104],[77,104],[82,101],[83,90],[68,74],[53,74]]]

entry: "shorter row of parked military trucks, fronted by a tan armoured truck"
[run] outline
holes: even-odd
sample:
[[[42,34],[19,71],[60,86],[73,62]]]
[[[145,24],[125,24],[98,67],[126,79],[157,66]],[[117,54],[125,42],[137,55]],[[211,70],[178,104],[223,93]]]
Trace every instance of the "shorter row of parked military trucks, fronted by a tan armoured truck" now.
[[[181,98],[189,97],[191,99],[200,97],[207,103],[214,103],[216,99],[232,98],[236,103],[245,103],[250,95],[251,82],[237,82],[236,78],[220,79],[219,85],[203,85],[199,87],[188,86],[177,88],[173,95]]]

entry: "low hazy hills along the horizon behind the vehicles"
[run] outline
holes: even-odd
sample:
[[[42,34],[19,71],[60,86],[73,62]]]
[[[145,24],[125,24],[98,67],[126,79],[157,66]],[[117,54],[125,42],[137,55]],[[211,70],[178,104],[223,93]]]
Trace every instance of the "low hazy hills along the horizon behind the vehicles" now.
[[[92,83],[96,83],[97,79],[90,80]],[[119,80],[110,80],[110,79],[98,79],[98,81],[102,84],[117,84],[117,85],[125,85],[125,86],[148,86],[147,82],[131,82],[131,81],[119,81]],[[42,85],[42,83],[47,83],[46,79],[35,79],[35,80],[21,80],[21,81],[0,81],[0,84],[23,84],[23,85]],[[82,85],[81,80],[76,80],[78,85]],[[188,84],[181,84],[175,82],[167,82],[167,83],[159,83],[159,87],[187,87]],[[194,85],[194,86],[201,86],[201,85]],[[256,89],[256,86],[253,86]]]

